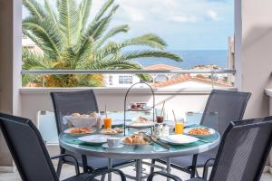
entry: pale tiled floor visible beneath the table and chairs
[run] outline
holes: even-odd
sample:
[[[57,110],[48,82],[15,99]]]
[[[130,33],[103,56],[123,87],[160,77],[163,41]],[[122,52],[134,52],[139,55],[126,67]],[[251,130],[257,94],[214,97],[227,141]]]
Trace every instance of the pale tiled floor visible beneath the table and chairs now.
[[[144,166],[143,168],[146,169],[145,173],[149,173],[149,167]],[[134,169],[134,167],[125,167],[125,168],[122,168],[121,170],[124,171],[125,173],[130,173],[133,176],[133,174],[135,174],[133,169]],[[188,174],[181,173],[180,171],[178,171],[176,169],[172,169],[171,173],[174,175],[180,176],[180,178],[182,178],[182,180],[186,180],[189,178]],[[73,175],[74,175],[73,167],[71,167],[71,166],[63,167],[62,178],[73,176]],[[119,180],[120,180],[119,176],[116,176],[116,175],[112,176],[112,181],[119,181]],[[131,181],[131,179],[127,179],[127,180]],[[159,178],[159,176],[158,176],[154,180],[164,181],[166,179],[163,177]],[[0,173],[0,181],[21,181],[21,179],[20,179],[20,176],[18,175],[17,172],[15,172],[15,173]],[[272,181],[272,175],[267,174],[267,173],[263,174],[261,181]]]

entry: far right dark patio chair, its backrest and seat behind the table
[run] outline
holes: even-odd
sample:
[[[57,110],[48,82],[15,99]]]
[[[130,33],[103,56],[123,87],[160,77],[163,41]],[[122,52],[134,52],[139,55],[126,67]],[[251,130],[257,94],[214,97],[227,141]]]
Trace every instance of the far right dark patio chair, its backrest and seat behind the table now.
[[[200,124],[218,130],[222,136],[230,121],[243,119],[250,95],[251,93],[248,92],[212,90]],[[217,121],[211,119],[213,115],[217,117]],[[199,155],[173,157],[170,159],[171,167],[187,172],[194,177],[196,168],[204,167],[209,158],[216,156],[217,151],[218,148],[214,148]],[[152,160],[152,164],[155,164],[156,161],[166,164],[165,159]],[[154,168],[151,167],[151,173],[153,171]]]

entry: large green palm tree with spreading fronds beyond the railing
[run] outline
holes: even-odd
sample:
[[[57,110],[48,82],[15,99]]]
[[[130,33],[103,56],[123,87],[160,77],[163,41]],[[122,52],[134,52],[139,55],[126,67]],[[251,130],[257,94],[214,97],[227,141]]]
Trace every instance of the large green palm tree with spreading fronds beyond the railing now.
[[[23,20],[23,33],[43,50],[39,54],[24,49],[24,70],[140,70],[141,65],[134,59],[181,61],[179,55],[163,51],[167,43],[152,33],[113,42],[113,36],[130,29],[128,24],[121,24],[108,30],[119,7],[114,0],[107,0],[92,19],[92,0],[56,0],[56,4],[57,8],[53,8],[48,0],[44,0],[44,5],[37,0],[23,0],[30,13]],[[128,49],[131,46],[145,49]],[[102,86],[102,75],[52,75],[45,79],[46,86]],[[24,75],[23,84],[30,81],[38,85],[41,77]]]

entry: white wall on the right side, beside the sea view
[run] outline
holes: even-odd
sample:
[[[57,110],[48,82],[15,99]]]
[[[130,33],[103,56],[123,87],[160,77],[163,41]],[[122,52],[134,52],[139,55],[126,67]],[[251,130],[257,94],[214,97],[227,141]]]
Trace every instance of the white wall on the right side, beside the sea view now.
[[[272,85],[272,1],[238,0],[236,8],[236,83],[252,92],[245,118],[268,116],[264,90]]]

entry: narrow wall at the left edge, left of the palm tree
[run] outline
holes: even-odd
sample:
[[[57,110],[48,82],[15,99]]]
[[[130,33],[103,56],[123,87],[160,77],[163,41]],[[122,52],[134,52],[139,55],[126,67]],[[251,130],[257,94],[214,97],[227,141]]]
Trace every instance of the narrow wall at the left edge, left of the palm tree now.
[[[0,111],[14,115],[20,114],[21,16],[21,0],[0,0]],[[0,135],[0,171],[11,166],[13,160]]]

